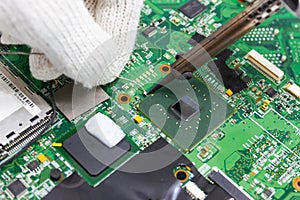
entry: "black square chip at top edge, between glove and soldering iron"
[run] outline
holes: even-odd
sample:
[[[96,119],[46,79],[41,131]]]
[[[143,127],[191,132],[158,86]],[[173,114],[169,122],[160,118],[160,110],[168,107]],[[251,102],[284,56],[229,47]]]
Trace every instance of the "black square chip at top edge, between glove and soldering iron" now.
[[[205,9],[206,6],[200,3],[198,0],[190,0],[189,2],[180,7],[179,11],[182,12],[188,18],[193,19]]]

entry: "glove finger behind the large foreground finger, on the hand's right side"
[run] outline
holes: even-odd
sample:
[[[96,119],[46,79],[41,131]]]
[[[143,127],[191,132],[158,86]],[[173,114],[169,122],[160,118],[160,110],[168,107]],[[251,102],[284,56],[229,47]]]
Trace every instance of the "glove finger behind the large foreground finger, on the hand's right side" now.
[[[96,22],[118,44],[115,66],[112,74],[120,74],[132,54],[143,0],[103,0],[96,6]]]

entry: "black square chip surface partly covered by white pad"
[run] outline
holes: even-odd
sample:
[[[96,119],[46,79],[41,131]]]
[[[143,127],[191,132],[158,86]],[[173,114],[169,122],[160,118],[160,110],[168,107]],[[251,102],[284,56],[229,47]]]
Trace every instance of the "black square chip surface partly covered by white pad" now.
[[[130,151],[131,146],[122,140],[116,147],[108,148],[82,128],[64,141],[63,148],[91,176],[97,176]]]

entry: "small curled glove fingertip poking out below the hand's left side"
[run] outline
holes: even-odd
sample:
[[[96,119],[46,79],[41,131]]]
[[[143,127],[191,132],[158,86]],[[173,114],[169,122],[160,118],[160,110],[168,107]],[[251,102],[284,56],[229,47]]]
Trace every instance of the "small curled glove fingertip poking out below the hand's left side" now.
[[[31,52],[41,53],[37,49],[32,49]],[[62,75],[62,73],[52,65],[45,55],[30,55],[29,65],[32,76],[38,80],[49,81]]]

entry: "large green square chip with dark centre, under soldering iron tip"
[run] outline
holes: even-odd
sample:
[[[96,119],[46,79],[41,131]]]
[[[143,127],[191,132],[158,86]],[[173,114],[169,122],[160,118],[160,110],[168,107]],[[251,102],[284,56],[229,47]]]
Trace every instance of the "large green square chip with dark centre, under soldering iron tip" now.
[[[234,113],[225,100],[196,78],[189,84],[171,82],[143,100],[139,110],[185,151]]]

